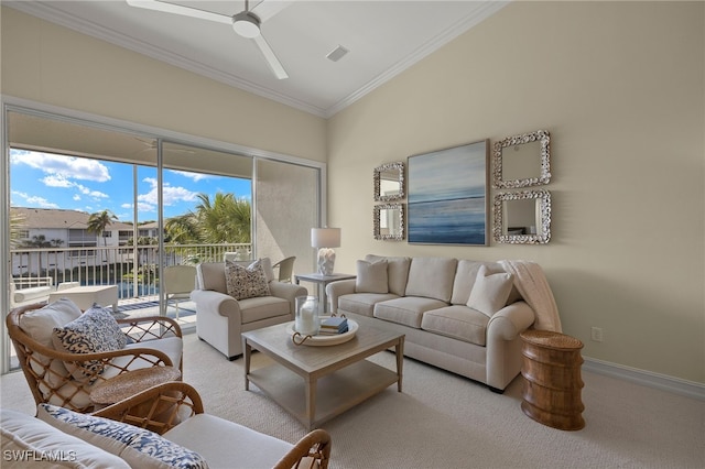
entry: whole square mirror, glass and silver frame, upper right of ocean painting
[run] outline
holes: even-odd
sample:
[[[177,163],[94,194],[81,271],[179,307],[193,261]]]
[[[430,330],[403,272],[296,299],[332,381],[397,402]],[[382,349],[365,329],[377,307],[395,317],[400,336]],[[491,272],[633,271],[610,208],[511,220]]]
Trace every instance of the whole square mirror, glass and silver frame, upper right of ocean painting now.
[[[530,187],[551,182],[551,135],[546,130],[495,142],[495,187]]]

